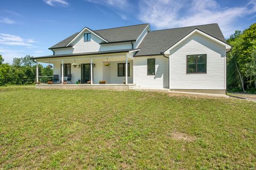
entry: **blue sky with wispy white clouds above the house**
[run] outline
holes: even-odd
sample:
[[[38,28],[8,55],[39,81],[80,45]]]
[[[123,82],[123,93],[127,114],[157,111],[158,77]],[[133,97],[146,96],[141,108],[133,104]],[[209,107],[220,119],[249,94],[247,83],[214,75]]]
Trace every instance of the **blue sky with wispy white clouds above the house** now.
[[[150,23],[151,30],[218,23],[228,38],[256,21],[256,0],[1,0],[0,54],[52,55],[48,48],[82,30]]]

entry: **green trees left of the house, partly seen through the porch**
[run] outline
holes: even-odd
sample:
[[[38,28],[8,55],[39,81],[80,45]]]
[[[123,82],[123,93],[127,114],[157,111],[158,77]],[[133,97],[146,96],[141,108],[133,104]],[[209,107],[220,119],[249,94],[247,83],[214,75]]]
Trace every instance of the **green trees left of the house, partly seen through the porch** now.
[[[13,63],[3,63],[0,55],[0,86],[9,84],[34,84],[36,79],[36,63],[27,55],[21,58],[13,58]],[[38,64],[39,75],[51,76],[53,70]]]

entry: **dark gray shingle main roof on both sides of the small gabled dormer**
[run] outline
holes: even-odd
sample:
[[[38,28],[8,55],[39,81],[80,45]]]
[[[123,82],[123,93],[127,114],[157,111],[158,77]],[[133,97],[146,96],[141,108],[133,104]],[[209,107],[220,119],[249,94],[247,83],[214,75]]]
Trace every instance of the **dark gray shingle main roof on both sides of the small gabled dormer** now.
[[[110,29],[102,29],[102,30],[91,30],[100,37],[108,40],[109,42],[116,41],[129,41],[129,40],[137,40],[142,31],[147,27],[148,23],[138,24],[138,25],[130,25],[126,27],[117,27]],[[65,47],[79,32],[76,32],[74,35],[60,41],[60,43],[55,44],[51,48],[62,48]]]

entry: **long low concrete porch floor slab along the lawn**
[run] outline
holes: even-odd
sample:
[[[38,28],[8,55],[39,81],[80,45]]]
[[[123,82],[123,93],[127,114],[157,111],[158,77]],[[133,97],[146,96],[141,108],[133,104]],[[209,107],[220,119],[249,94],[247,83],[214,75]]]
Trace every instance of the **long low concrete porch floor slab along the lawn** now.
[[[36,84],[36,89],[106,89],[129,90],[135,84]]]

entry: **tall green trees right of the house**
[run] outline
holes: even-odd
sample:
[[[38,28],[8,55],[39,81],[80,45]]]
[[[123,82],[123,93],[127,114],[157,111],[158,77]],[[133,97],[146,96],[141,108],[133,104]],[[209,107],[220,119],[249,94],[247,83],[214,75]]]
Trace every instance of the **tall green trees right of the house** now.
[[[227,43],[232,46],[227,54],[228,90],[256,92],[256,23],[235,31]]]

